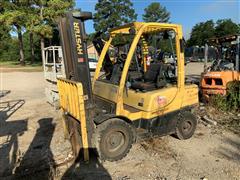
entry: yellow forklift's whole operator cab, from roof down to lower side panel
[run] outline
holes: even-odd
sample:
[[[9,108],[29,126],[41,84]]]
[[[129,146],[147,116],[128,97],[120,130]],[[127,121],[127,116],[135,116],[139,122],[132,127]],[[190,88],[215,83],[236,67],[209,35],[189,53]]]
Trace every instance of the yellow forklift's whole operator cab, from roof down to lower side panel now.
[[[136,22],[110,31],[93,80],[97,106],[131,120],[149,119],[184,106],[184,88],[180,25]]]

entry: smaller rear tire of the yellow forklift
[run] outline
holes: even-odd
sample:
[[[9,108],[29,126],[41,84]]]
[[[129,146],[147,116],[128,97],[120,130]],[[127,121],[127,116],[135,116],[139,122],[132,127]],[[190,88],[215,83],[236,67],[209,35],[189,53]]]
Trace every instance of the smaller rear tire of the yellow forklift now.
[[[193,136],[197,127],[197,118],[190,111],[181,113],[177,122],[176,136],[179,139],[189,139]]]

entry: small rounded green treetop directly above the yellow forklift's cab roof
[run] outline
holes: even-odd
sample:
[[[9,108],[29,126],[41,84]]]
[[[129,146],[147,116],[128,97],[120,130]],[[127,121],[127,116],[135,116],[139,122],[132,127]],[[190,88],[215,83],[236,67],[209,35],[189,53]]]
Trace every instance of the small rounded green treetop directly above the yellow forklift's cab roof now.
[[[170,12],[158,2],[151,3],[144,11],[143,20],[145,22],[168,22],[170,19]]]

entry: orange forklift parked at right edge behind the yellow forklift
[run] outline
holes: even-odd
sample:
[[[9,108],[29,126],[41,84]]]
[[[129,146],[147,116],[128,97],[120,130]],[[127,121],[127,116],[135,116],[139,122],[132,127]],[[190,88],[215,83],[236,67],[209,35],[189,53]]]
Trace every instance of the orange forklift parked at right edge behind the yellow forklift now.
[[[212,95],[226,95],[228,84],[240,81],[240,35],[228,35],[209,39],[217,47],[217,58],[202,74],[201,93],[208,101]]]

